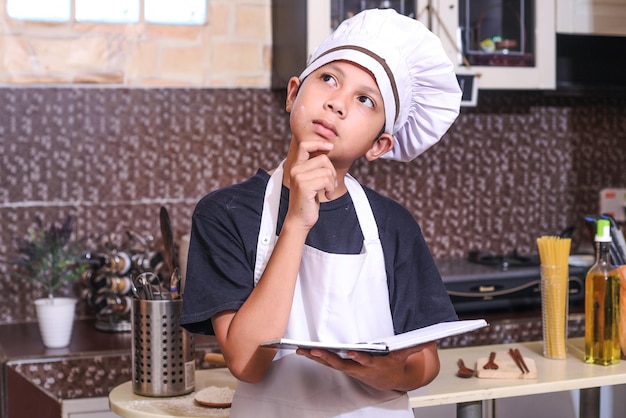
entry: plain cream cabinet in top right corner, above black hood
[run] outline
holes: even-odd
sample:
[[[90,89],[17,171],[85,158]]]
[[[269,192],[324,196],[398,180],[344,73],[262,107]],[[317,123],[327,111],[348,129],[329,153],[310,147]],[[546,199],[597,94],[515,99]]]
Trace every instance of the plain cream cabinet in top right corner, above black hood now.
[[[557,0],[556,31],[569,34],[626,35],[626,2]]]

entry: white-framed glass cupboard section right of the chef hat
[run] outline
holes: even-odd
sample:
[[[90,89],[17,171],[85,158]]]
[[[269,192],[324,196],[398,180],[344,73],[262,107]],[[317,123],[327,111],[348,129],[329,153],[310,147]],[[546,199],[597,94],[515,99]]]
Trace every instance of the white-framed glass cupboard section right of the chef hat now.
[[[478,88],[555,88],[553,0],[422,0],[418,10]]]

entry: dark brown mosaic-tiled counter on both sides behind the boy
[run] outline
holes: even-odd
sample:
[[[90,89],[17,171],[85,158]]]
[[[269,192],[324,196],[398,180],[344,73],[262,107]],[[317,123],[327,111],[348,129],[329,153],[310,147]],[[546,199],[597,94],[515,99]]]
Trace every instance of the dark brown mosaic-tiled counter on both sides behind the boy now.
[[[584,314],[572,309],[569,336],[584,335]],[[476,332],[445,338],[441,348],[539,341],[541,312],[536,308],[516,312],[480,312],[462,319],[485,318],[490,326]],[[195,336],[196,369],[212,367],[203,361],[218,351],[214,337]],[[59,417],[65,400],[103,399],[122,382],[131,380],[131,333],[99,331],[93,320],[78,320],[67,348],[43,346],[36,323],[0,325],[2,392],[0,416],[24,416],[12,411],[41,405],[30,416]],[[33,402],[33,399],[38,402]],[[9,408],[10,405],[10,408]],[[21,409],[20,409],[21,408]]]

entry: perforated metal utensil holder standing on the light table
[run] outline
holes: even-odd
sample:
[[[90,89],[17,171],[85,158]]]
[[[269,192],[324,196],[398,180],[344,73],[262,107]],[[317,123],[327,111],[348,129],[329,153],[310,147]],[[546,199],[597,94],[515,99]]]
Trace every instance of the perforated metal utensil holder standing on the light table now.
[[[179,325],[182,300],[133,299],[133,392],[143,396],[185,395],[195,385],[193,335]]]

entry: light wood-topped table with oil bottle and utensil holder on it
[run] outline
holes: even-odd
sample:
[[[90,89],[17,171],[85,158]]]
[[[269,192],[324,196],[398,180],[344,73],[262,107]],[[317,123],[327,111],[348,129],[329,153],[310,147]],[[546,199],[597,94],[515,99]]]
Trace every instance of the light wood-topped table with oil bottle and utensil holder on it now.
[[[565,360],[545,358],[540,341],[441,350],[439,376],[429,385],[409,392],[411,407],[457,404],[457,417],[482,417],[483,400],[580,390],[581,411],[584,411],[585,418],[597,418],[600,401],[597,388],[626,383],[626,363],[609,367],[585,364],[583,339],[569,339],[567,346]],[[456,376],[457,359],[464,358],[467,364],[473,365],[490,351],[506,353],[510,348],[519,349],[531,368],[536,366],[536,378],[461,379]],[[199,371],[196,381],[196,392],[208,386],[234,388],[237,384],[225,368]],[[228,417],[229,409],[199,406],[194,402],[194,396],[194,393],[169,398],[139,396],[133,393],[131,382],[125,382],[111,391],[109,402],[111,409],[125,418]]]

